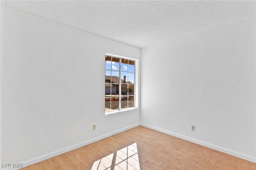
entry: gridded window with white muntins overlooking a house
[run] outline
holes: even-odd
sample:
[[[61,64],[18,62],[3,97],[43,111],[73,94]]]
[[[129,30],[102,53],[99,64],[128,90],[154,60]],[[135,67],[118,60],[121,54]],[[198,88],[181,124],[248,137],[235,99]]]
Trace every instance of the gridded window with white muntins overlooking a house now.
[[[105,112],[134,107],[135,61],[105,56]]]

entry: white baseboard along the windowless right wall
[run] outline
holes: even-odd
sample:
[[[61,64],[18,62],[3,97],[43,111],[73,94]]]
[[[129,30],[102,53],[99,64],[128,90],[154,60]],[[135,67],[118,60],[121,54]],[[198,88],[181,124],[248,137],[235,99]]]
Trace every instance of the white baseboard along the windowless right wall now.
[[[147,125],[147,124],[144,124],[144,123],[140,123],[140,125],[144,126],[144,127],[148,127],[150,129],[154,129],[156,131],[160,131],[162,133],[166,133],[168,135],[172,135],[174,137],[178,137],[180,139],[184,139],[186,141],[190,141],[192,143],[196,143],[198,145],[202,145],[204,147],[208,147],[208,148],[211,148],[211,149],[214,149],[214,150],[218,150],[220,152],[224,152],[226,154],[230,154],[230,155],[233,155],[233,156],[236,156],[238,158],[242,158],[242,159],[245,159],[245,160],[249,160],[251,162],[255,162],[256,163],[256,158],[253,157],[253,156],[248,156],[246,154],[242,154],[242,153],[239,153],[239,152],[236,152],[234,150],[230,150],[230,149],[226,149],[226,148],[222,148],[222,147],[219,147],[219,146],[216,146],[216,145],[212,145],[210,143],[206,143],[206,142],[203,142],[203,141],[199,141],[197,139],[193,139],[193,138],[190,138],[190,137],[186,137],[186,136],[183,136],[183,135],[180,135],[180,134],[177,134],[177,133],[173,133],[173,132],[170,132],[170,131],[166,131],[164,129],[160,129],[158,127],[154,127],[154,126],[151,126],[151,125]]]

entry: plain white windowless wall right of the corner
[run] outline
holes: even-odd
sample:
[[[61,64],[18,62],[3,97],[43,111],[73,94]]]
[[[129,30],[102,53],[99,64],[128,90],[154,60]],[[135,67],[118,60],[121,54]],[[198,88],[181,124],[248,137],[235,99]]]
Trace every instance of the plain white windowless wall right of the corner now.
[[[255,20],[143,48],[142,125],[255,162],[255,55]]]

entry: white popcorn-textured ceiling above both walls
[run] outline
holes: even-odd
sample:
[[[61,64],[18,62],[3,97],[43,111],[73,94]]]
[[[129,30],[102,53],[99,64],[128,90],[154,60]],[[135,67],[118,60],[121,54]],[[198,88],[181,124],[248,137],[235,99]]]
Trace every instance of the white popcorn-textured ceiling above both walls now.
[[[255,1],[5,1],[136,47],[255,18]]]

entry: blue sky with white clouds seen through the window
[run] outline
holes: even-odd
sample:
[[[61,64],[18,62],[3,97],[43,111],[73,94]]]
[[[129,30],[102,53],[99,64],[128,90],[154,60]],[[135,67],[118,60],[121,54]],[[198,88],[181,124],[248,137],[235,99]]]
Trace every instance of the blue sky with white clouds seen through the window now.
[[[111,62],[106,61],[106,75],[111,76],[112,70],[112,76],[118,76],[119,77],[119,63],[117,62]],[[130,81],[134,83],[134,65],[132,64],[121,64],[121,75],[122,79],[124,79],[124,76],[126,76],[126,81]]]

